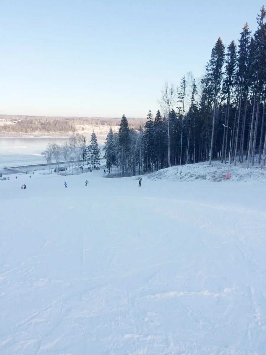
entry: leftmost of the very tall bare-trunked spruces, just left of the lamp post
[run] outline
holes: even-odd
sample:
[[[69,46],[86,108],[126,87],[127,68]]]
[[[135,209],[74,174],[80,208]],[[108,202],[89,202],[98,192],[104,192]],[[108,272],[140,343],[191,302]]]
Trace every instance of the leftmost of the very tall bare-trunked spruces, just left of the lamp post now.
[[[222,80],[222,67],[225,61],[225,46],[221,38],[217,39],[217,42],[212,48],[211,51],[211,59],[209,61],[209,68],[211,72],[212,81],[214,83],[214,110],[213,110],[213,118],[212,118],[212,131],[211,131],[211,148],[210,148],[210,159],[209,164],[211,164],[212,160],[212,151],[214,146],[214,129],[215,129],[215,113],[216,113],[216,99],[217,93],[220,91],[221,80]]]

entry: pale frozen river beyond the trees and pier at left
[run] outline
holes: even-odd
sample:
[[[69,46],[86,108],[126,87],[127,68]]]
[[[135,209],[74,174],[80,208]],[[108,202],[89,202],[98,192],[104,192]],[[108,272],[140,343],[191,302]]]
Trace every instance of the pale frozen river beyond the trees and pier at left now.
[[[84,135],[89,144],[90,135]],[[48,143],[62,144],[71,135],[0,135],[0,173],[4,166],[43,163],[41,153]],[[102,143],[99,141],[99,143]]]

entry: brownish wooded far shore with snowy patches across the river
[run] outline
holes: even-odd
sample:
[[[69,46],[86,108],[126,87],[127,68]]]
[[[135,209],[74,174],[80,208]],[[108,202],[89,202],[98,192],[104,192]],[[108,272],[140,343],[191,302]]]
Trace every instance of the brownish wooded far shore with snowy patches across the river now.
[[[12,124],[0,126],[0,133],[33,133],[33,132],[57,132],[67,133],[76,132],[77,125],[95,126],[119,126],[118,118],[101,117],[45,117],[45,116],[19,116],[19,115],[0,115],[0,119],[8,120]],[[129,126],[139,129],[144,125],[144,119],[129,119]],[[82,127],[83,128],[83,127]],[[81,129],[82,129],[81,128]]]

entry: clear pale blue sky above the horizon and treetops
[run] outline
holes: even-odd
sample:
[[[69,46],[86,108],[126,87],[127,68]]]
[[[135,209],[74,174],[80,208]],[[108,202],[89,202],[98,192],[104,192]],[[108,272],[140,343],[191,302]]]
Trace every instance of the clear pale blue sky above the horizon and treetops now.
[[[165,82],[203,74],[262,0],[2,0],[0,114],[145,117]],[[238,44],[238,42],[237,42]]]

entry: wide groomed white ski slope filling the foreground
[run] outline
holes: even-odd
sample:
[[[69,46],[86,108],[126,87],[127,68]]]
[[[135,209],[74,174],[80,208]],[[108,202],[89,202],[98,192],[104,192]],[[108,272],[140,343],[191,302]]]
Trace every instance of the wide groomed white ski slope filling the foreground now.
[[[265,355],[265,185],[101,170],[0,198],[1,355]]]

